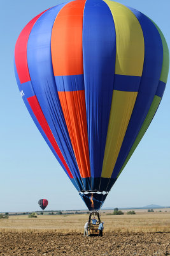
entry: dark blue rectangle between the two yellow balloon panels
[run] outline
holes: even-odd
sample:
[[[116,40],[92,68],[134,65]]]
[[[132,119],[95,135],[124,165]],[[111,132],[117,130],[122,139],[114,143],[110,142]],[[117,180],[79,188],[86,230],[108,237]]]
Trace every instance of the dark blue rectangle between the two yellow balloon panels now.
[[[114,90],[124,92],[138,92],[141,77],[123,76],[115,74]]]

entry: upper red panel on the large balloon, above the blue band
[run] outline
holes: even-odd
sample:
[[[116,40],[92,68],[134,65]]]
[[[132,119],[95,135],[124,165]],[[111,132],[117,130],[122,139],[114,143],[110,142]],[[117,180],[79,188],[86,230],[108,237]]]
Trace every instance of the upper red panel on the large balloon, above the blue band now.
[[[32,19],[25,26],[24,29],[22,29],[20,35],[18,36],[18,40],[15,45],[15,64],[16,64],[18,77],[20,79],[21,84],[31,81],[31,78],[29,76],[29,69],[27,65],[27,42],[28,42],[32,27],[34,26],[38,18],[46,11],[41,12],[39,15],[34,17],[34,19]]]

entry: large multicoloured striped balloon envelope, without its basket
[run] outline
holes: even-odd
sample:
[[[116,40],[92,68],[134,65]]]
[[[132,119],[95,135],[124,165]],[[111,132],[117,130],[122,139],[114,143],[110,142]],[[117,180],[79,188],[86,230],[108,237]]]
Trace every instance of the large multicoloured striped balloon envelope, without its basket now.
[[[159,107],[169,51],[143,13],[76,0],[32,19],[15,45],[25,106],[90,211],[97,211]]]

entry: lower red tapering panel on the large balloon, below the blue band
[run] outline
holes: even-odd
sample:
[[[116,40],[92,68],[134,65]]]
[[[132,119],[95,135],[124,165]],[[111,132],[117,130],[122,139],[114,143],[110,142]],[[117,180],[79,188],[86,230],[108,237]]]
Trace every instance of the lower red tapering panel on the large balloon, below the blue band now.
[[[46,122],[45,116],[43,114],[43,111],[41,110],[41,107],[39,105],[39,102],[38,102],[38,99],[37,99],[36,95],[27,98],[27,100],[29,102],[29,105],[31,106],[31,109],[32,109],[34,115],[36,116],[36,118],[39,122],[39,125],[41,125],[41,128],[45,132],[46,137],[48,138],[48,140],[52,144],[53,149],[55,150],[55,152],[59,156],[60,161],[62,161],[62,164],[64,164],[64,167],[66,168],[69,177],[71,179],[73,179],[73,175],[71,174],[71,172],[69,170],[69,167],[67,166],[67,163],[66,163],[64,157],[62,156],[62,153],[60,152],[60,148],[57,145],[57,142],[55,141],[55,138],[53,137],[52,131],[50,130],[50,127],[49,127],[48,123]]]

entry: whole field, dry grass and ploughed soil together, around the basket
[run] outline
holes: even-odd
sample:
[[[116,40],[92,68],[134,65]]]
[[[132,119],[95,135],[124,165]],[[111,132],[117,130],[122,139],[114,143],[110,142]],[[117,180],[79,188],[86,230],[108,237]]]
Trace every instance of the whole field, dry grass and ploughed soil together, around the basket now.
[[[170,255],[170,213],[103,215],[103,237],[83,237],[87,218],[78,214],[0,220],[0,255]]]

